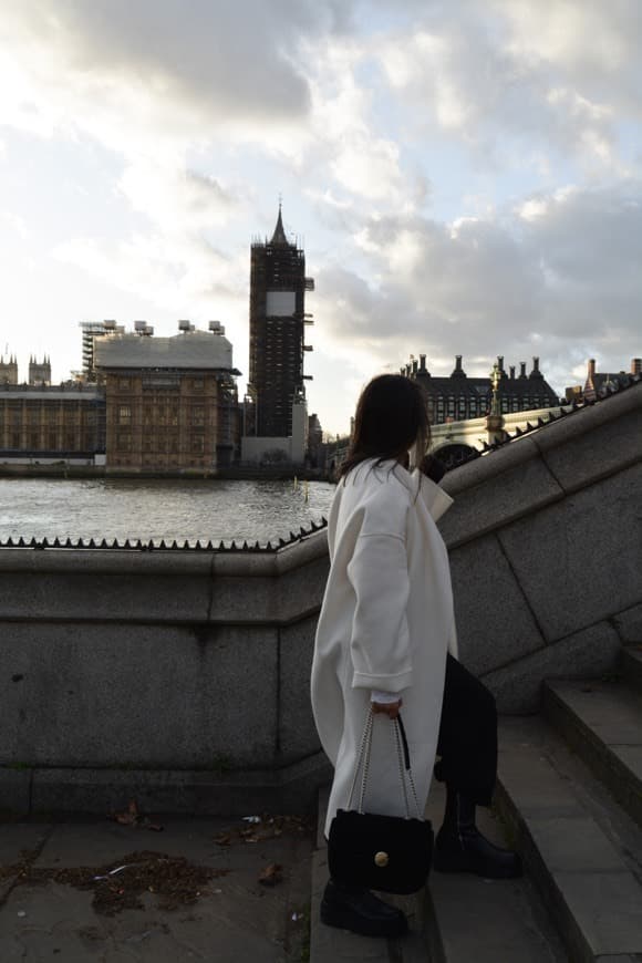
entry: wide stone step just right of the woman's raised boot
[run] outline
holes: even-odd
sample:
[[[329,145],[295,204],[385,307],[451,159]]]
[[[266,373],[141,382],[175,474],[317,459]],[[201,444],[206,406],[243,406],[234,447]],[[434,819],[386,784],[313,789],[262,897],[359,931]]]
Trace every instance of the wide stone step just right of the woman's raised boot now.
[[[497,808],[572,963],[642,960],[642,833],[537,717],[501,719]]]

